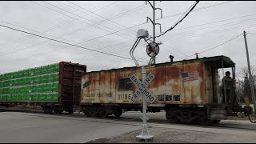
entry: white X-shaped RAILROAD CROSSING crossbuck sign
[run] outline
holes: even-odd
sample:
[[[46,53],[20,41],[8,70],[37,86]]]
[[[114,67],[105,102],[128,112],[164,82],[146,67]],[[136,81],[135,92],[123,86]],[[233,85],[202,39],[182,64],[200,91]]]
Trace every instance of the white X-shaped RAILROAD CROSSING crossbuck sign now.
[[[149,86],[150,82],[154,79],[153,74],[149,74],[144,82],[141,82],[135,75],[130,77],[131,82],[134,83],[138,89],[135,91],[134,95],[130,100],[134,103],[141,96],[141,94],[145,94],[146,99],[148,99],[151,103],[154,102],[154,95],[150,93],[150,90],[147,90],[146,87]]]

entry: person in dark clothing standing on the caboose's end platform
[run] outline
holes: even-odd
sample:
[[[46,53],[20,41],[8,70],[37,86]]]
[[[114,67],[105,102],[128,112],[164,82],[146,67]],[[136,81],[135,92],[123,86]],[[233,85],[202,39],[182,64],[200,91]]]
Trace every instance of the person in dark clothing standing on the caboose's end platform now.
[[[226,71],[225,77],[222,78],[222,102],[230,103],[230,90],[232,88],[233,78],[230,77],[230,71]],[[225,101],[226,95],[226,101]]]

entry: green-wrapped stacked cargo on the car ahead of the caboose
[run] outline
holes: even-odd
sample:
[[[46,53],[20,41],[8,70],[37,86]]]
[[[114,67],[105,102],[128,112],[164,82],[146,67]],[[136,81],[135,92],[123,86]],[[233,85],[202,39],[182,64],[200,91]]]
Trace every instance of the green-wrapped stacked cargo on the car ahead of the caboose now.
[[[0,102],[58,102],[59,63],[0,74]]]

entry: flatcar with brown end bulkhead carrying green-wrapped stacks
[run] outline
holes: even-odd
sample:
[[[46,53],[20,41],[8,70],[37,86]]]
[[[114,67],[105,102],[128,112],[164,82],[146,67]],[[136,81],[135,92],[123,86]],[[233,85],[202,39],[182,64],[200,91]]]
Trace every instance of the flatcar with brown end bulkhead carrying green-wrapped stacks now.
[[[0,74],[0,106],[42,106],[46,114],[72,114],[86,66],[71,62]]]

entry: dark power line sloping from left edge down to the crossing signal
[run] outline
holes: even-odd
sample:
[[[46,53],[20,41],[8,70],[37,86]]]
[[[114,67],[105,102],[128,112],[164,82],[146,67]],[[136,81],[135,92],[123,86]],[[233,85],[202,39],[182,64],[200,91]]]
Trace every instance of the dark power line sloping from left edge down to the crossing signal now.
[[[83,47],[83,46],[77,46],[77,45],[74,45],[74,44],[70,44],[70,43],[68,43],[68,42],[58,41],[58,40],[56,40],[56,39],[54,39],[54,38],[46,38],[46,37],[41,36],[41,35],[38,35],[38,34],[32,34],[32,33],[29,33],[29,32],[23,31],[23,30],[14,29],[14,28],[9,27],[9,26],[3,26],[3,25],[0,25],[0,26],[6,27],[6,28],[11,29],[11,30],[17,30],[17,31],[22,32],[22,33],[31,34],[31,35],[34,35],[34,36],[37,36],[37,37],[40,37],[40,38],[49,39],[49,40],[51,40],[51,41],[64,43],[64,44],[66,44],[66,45],[75,46],[75,47],[82,48],[82,49],[85,49],[85,50],[91,50],[91,49],[86,48],[86,47]],[[98,53],[101,53],[101,54],[111,55],[111,56],[118,57],[118,58],[126,58],[126,57],[122,57],[122,56],[119,56],[119,55],[116,55],[116,54],[109,54],[109,53],[102,52],[102,51],[98,51],[98,50],[91,50],[91,51],[98,52]],[[0,55],[0,56],[2,56],[2,55]],[[132,58],[126,58],[126,59],[133,60]],[[144,62],[144,61],[140,61],[140,62]],[[147,63],[147,62],[146,62],[146,63]]]

